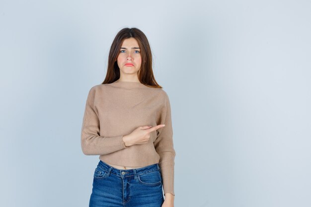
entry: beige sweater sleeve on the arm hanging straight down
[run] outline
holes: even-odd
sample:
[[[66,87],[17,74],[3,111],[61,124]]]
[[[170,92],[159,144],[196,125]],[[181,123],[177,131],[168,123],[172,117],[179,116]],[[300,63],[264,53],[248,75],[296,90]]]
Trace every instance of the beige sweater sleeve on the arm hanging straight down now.
[[[173,130],[171,121],[170,103],[166,92],[164,107],[161,113],[160,123],[165,127],[159,128],[156,141],[154,142],[156,152],[160,156],[159,167],[163,181],[163,190],[165,193],[174,194],[174,158],[175,150],[173,147]]]

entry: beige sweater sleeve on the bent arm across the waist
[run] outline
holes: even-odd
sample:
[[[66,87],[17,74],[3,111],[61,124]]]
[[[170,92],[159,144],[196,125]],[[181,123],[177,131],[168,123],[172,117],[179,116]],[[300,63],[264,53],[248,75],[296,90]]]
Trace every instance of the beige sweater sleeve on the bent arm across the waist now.
[[[81,129],[81,147],[85,155],[109,154],[124,148],[123,135],[103,137],[100,135],[99,119],[94,107],[95,87],[89,90]]]

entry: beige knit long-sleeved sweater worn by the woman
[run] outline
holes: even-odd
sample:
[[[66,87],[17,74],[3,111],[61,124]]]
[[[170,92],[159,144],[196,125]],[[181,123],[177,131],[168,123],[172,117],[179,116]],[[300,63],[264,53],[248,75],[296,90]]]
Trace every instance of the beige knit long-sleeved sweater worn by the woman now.
[[[165,124],[145,144],[125,146],[122,137],[140,126]],[[120,81],[93,86],[88,93],[81,129],[85,155],[123,166],[158,163],[163,190],[174,195],[171,110],[167,93],[139,82]]]

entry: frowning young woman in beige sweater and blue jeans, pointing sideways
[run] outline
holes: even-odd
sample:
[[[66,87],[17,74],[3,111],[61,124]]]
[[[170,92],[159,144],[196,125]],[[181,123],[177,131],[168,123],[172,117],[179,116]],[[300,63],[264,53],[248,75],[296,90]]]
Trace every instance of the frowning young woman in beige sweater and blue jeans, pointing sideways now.
[[[89,207],[174,206],[170,102],[155,80],[147,37],[137,28],[118,32],[106,78],[89,90],[81,147],[100,159]]]

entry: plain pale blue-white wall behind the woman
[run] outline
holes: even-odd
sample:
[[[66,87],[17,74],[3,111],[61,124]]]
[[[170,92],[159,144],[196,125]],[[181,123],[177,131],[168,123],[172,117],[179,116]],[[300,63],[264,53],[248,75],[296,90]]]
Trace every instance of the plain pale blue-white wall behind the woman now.
[[[123,27],[170,98],[175,207],[311,206],[308,0],[0,0],[0,206],[86,207],[87,92]]]

